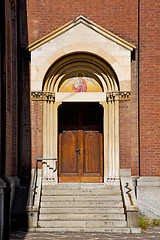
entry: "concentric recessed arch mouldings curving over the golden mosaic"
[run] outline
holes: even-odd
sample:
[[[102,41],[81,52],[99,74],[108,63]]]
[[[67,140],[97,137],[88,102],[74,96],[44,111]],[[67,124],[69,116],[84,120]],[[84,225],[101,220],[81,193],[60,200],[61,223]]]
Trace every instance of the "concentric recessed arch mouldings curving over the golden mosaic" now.
[[[45,80],[44,80],[44,86],[43,86],[43,90],[45,90],[45,91],[52,91],[52,92],[57,92],[57,88],[58,88],[58,85],[59,85],[59,83],[60,83],[60,81],[61,81],[61,79],[63,78],[63,76],[64,75],[66,75],[68,72],[70,72],[70,71],[73,71],[73,70],[79,70],[79,69],[81,69],[81,68],[83,68],[84,70],[86,70],[86,71],[88,71],[88,72],[92,72],[92,73],[94,73],[94,75],[95,76],[97,76],[97,78],[99,79],[99,81],[101,82],[101,84],[102,84],[102,86],[103,86],[103,89],[104,89],[104,92],[111,92],[111,91],[119,91],[119,89],[118,89],[118,85],[117,85],[117,83],[118,83],[118,78],[117,78],[117,76],[116,76],[116,74],[114,73],[114,71],[112,70],[112,68],[110,67],[110,66],[108,66],[108,64],[107,63],[105,63],[104,64],[104,66],[102,66],[102,65],[100,65],[100,61],[102,61],[102,59],[100,59],[100,58],[98,58],[98,57],[96,57],[95,55],[93,55],[93,54],[86,54],[86,53],[77,53],[77,54],[71,54],[71,55],[67,55],[67,56],[65,56],[64,58],[70,58],[70,59],[72,59],[72,56],[77,56],[77,58],[78,58],[78,56],[80,55],[80,57],[79,57],[79,61],[78,61],[78,63],[76,62],[74,62],[74,60],[70,60],[71,62],[70,63],[68,63],[67,65],[65,65],[64,64],[64,66],[61,66],[60,65],[60,61],[61,61],[61,59],[59,59],[57,62],[59,63],[59,66],[61,66],[60,67],[60,70],[57,72],[57,69],[55,68],[53,68],[52,66],[54,66],[54,64],[51,66],[51,68],[49,69],[49,71],[48,71],[48,73],[49,72],[51,72],[50,73],[50,77],[48,77],[48,80],[46,80],[47,81],[47,83],[45,82]],[[86,57],[86,59],[84,60],[83,59],[83,57],[82,56],[88,56],[88,61],[85,61],[86,59],[87,59],[87,57]],[[93,63],[91,63],[91,60],[89,59],[89,57],[94,57],[94,60],[96,60],[96,59],[98,59],[99,60],[99,62],[96,62],[95,61],[95,63],[93,64]],[[64,59],[63,58],[63,59]],[[83,61],[85,61],[84,63],[83,63]],[[93,60],[92,60],[93,61]],[[100,65],[100,66],[98,66],[98,64]],[[103,69],[102,69],[102,67],[103,67]],[[108,69],[112,72],[112,73],[108,73]],[[53,69],[53,70],[52,70]],[[56,72],[56,76],[54,76],[54,73],[53,72]],[[100,73],[101,72],[101,73]],[[47,74],[48,74],[47,73]],[[47,75],[46,74],[46,75]],[[53,74],[53,75],[52,75]],[[113,76],[112,78],[114,79],[111,79],[111,76],[112,75],[115,75],[115,76]],[[47,78],[47,77],[45,77],[45,78]],[[106,80],[105,80],[106,79]],[[116,81],[117,81],[117,83],[116,83]],[[49,83],[50,82],[50,83]],[[112,88],[114,88],[114,89],[110,89],[109,88],[109,86],[108,86],[108,84],[107,84],[107,82],[110,82],[110,84],[111,85],[115,85],[115,86],[112,86]],[[115,82],[114,84],[113,83],[111,83],[111,82]],[[48,85],[47,87],[45,87],[45,85]],[[51,87],[51,85],[52,85],[52,87]]]

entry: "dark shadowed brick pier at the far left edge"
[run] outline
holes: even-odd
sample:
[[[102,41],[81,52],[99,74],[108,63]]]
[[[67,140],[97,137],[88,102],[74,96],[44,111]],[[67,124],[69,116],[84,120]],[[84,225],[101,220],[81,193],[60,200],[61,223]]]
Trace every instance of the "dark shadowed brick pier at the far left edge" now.
[[[18,164],[17,5],[4,1],[1,7],[1,174],[11,177]]]

